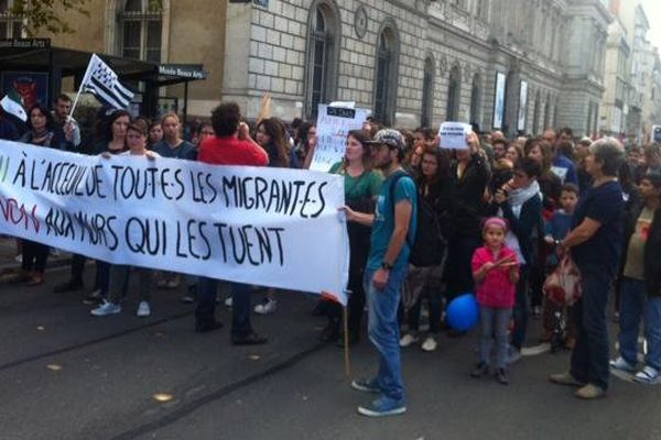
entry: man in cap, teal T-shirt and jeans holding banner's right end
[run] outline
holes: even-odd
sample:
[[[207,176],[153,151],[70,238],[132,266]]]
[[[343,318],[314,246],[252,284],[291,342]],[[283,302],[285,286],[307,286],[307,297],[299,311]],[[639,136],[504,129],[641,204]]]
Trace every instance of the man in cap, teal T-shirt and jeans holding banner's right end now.
[[[379,131],[373,141],[373,166],[386,176],[373,215],[343,210],[347,220],[371,226],[365,290],[369,301],[369,339],[379,351],[379,372],[370,380],[355,380],[354,389],[380,396],[358,407],[368,417],[407,411],[401,372],[398,309],[400,292],[409,268],[410,245],[415,235],[418,190],[401,166],[402,135],[391,129]],[[394,196],[394,197],[393,197]]]

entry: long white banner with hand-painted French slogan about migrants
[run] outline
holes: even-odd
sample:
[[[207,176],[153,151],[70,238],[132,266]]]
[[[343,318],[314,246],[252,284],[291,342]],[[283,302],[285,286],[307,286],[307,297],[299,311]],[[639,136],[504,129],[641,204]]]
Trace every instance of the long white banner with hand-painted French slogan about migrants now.
[[[110,263],[321,294],[342,304],[344,178],[84,156],[0,141],[0,233]]]

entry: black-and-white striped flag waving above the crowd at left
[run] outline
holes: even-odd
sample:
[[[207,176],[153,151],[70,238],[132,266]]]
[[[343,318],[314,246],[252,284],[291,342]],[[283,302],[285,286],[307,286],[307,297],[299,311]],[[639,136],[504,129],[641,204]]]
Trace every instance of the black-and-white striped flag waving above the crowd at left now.
[[[117,74],[96,54],[91,55],[80,89],[116,109],[129,107],[133,92],[119,82]]]

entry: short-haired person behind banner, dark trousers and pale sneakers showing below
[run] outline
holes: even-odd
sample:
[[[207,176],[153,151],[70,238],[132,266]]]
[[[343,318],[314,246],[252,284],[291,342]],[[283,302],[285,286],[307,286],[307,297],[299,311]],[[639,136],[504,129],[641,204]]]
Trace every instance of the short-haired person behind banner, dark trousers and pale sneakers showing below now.
[[[151,161],[160,157],[158,153],[147,150],[147,135],[148,131],[144,121],[129,124],[127,129],[127,144],[129,145],[129,151],[121,153],[121,155],[147,157]],[[112,157],[108,152],[104,153],[101,156],[107,160]],[[93,316],[102,317],[119,314],[121,311],[120,301],[123,296],[124,286],[128,285],[130,273],[131,266],[122,264],[113,264],[110,266],[108,299],[90,311]],[[138,267],[137,273],[140,277],[140,305],[138,306],[137,315],[139,317],[148,317],[151,315],[149,300],[153,289],[153,271],[145,267]]]

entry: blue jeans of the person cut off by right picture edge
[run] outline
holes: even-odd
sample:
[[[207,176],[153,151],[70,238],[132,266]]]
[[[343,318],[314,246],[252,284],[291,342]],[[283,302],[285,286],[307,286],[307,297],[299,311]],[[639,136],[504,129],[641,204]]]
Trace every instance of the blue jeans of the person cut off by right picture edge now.
[[[638,363],[638,334],[641,318],[648,341],[646,364],[661,371],[661,298],[647,296],[644,282],[622,279],[620,294],[619,343],[620,355],[630,363]]]

